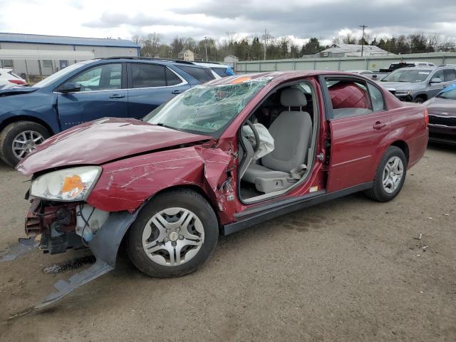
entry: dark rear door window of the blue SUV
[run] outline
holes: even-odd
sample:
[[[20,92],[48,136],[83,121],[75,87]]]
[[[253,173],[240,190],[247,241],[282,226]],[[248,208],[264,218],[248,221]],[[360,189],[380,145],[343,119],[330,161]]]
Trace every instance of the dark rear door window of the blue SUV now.
[[[131,63],[132,88],[165,87],[165,67],[155,64]]]

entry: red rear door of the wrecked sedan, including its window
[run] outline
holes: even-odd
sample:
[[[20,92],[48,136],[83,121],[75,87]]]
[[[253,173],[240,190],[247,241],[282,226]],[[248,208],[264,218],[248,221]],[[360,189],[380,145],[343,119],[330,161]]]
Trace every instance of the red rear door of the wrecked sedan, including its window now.
[[[327,191],[372,181],[378,143],[390,132],[383,93],[373,83],[348,77],[322,78],[331,130]]]

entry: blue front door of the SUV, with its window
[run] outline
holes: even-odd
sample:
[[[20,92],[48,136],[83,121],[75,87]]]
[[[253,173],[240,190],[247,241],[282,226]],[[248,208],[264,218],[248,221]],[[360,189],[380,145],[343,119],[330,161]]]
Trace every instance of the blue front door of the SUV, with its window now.
[[[128,93],[123,63],[88,68],[67,82],[81,85],[77,93],[58,93],[57,108],[62,130],[98,118],[128,117]]]

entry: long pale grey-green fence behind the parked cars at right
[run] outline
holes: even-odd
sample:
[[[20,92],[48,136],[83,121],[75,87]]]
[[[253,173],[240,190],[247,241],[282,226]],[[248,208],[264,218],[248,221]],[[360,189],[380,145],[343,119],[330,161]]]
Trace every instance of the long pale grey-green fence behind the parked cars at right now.
[[[393,56],[344,57],[344,58],[296,58],[273,61],[239,61],[237,73],[257,73],[262,71],[304,71],[304,70],[371,70],[388,68],[391,63],[400,61],[423,61],[440,64],[456,64],[456,52],[410,53]]]

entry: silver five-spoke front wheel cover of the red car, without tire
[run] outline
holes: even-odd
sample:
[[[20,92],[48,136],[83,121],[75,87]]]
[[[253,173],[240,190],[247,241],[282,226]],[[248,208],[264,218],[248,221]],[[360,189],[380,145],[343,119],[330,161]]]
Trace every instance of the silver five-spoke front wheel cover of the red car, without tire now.
[[[142,248],[162,266],[178,266],[195,257],[204,242],[204,228],[188,209],[172,207],[157,212],[142,232]]]

